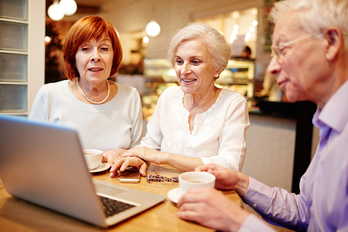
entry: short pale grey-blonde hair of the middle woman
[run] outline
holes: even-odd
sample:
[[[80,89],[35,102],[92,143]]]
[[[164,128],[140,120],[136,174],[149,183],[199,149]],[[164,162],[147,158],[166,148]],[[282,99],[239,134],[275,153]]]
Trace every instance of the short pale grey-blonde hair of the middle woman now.
[[[175,53],[177,47],[187,40],[202,40],[209,53],[212,55],[214,68],[222,72],[228,63],[231,47],[225,36],[207,24],[198,22],[190,23],[180,29],[173,36],[168,47],[167,58],[171,65],[175,65]]]

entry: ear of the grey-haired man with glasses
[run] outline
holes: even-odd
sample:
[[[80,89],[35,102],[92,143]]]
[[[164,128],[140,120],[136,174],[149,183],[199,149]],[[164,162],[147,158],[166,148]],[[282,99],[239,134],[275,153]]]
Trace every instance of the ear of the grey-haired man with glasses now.
[[[324,31],[324,52],[328,60],[335,59],[343,47],[343,33],[337,26],[331,26]]]

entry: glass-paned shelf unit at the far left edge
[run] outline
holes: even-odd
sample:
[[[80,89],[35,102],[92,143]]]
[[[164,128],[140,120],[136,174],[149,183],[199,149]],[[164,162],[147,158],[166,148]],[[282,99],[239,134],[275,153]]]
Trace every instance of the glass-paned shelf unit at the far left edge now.
[[[0,1],[0,114],[27,114],[28,2]]]

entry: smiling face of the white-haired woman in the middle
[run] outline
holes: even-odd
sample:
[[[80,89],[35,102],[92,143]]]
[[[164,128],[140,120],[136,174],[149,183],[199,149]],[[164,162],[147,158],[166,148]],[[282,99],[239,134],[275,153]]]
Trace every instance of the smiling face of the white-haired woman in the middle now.
[[[214,87],[214,68],[212,55],[202,40],[187,40],[177,47],[175,53],[175,72],[182,91],[190,94],[205,94]]]

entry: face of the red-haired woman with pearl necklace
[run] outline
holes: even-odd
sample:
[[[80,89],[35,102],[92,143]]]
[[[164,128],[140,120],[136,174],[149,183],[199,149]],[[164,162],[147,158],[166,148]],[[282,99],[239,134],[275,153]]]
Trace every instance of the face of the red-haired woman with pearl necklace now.
[[[76,54],[76,68],[81,78],[99,84],[109,78],[113,61],[113,47],[109,38],[88,40]]]

